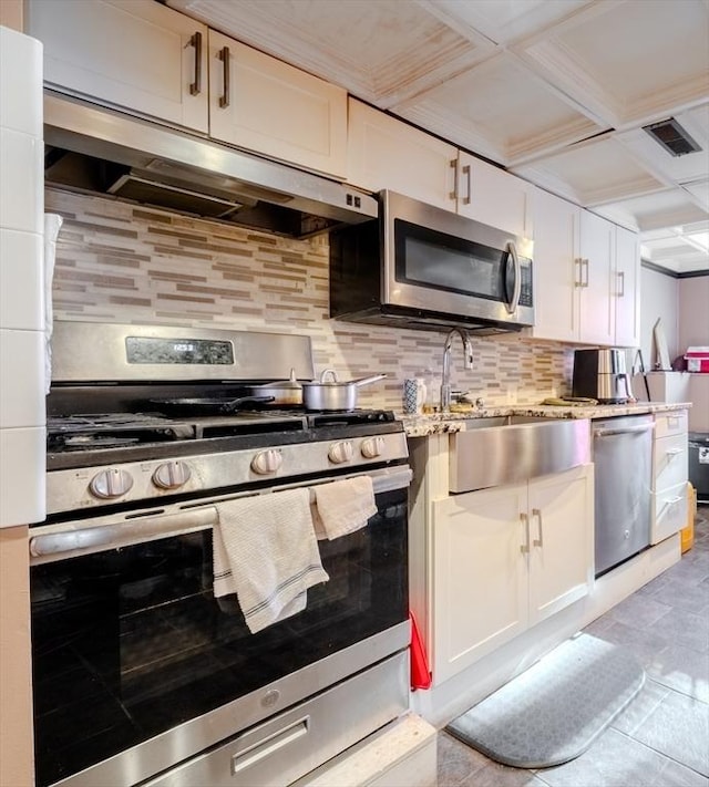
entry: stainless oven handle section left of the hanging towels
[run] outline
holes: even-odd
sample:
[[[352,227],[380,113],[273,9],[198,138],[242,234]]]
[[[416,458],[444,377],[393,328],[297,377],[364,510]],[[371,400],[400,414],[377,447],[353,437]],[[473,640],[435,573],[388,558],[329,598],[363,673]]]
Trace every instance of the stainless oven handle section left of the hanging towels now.
[[[194,508],[178,514],[122,521],[101,527],[72,528],[30,538],[32,565],[64,560],[158,538],[206,530],[218,521],[217,509]]]

